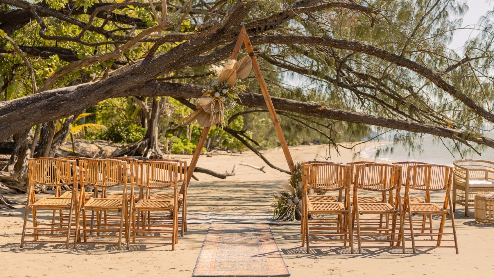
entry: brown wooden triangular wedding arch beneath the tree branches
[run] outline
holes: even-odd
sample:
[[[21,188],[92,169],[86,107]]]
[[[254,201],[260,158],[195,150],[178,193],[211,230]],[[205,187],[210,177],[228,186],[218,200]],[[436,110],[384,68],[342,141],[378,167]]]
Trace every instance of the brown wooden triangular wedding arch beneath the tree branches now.
[[[278,139],[280,139],[280,144],[283,149],[283,153],[285,154],[285,158],[287,159],[288,167],[290,168],[290,172],[293,173],[295,170],[295,164],[293,164],[293,160],[291,159],[290,151],[288,150],[287,140],[285,139],[285,135],[283,135],[283,131],[280,126],[280,121],[278,120],[278,115],[276,115],[275,107],[273,106],[273,102],[271,101],[271,96],[269,95],[268,88],[266,87],[266,83],[264,83],[264,77],[262,76],[261,69],[259,68],[259,64],[257,63],[257,58],[254,55],[254,49],[250,44],[250,39],[247,35],[247,30],[245,26],[242,26],[242,30],[240,30],[239,38],[237,39],[237,43],[233,48],[232,56],[230,59],[237,59],[239,55],[240,49],[242,45],[246,46],[247,53],[252,58],[252,68],[257,77],[257,81],[259,82],[259,87],[261,88],[262,95],[264,96],[264,101],[266,102],[266,106],[268,107],[269,115],[271,116],[271,120],[273,121],[273,125],[275,126],[276,135],[278,135]],[[180,194],[184,193],[185,187],[189,185],[190,179],[192,178],[192,174],[196,169],[197,161],[199,160],[199,156],[201,155],[201,151],[203,150],[204,143],[206,142],[207,134],[209,133],[209,129],[211,127],[205,127],[203,129],[203,133],[199,138],[199,142],[197,143],[197,148],[194,151],[194,155],[192,156],[192,161],[190,162],[189,169],[187,172],[187,180],[184,181],[182,186],[180,187]],[[184,186],[185,185],[185,186]]]

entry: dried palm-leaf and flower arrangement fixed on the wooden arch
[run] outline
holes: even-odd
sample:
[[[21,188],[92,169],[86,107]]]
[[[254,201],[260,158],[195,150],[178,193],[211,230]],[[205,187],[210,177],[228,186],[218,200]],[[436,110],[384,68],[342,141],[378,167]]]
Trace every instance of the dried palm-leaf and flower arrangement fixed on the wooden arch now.
[[[223,66],[212,66],[214,75],[208,76],[209,88],[202,91],[203,95],[197,100],[196,111],[185,117],[179,124],[188,125],[197,119],[201,127],[225,124],[226,109],[235,108],[239,95],[248,86],[239,80],[246,78],[252,70],[252,59],[244,56],[240,60],[230,59]]]

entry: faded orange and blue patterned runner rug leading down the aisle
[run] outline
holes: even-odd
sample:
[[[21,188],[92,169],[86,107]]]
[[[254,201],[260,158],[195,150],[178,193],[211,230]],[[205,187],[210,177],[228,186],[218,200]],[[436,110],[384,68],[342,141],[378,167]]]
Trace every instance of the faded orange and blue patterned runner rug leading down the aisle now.
[[[193,277],[290,276],[268,224],[211,224]]]

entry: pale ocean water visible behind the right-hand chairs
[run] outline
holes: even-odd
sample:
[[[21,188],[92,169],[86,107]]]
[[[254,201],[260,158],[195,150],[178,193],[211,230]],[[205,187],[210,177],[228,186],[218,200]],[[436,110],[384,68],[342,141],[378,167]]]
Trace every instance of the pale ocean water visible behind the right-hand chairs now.
[[[491,134],[490,134],[491,135]],[[492,136],[492,135],[491,135]],[[451,140],[443,139],[448,147],[443,145],[441,140],[434,138],[425,138],[417,141],[419,147],[410,149],[401,143],[368,143],[360,152],[363,159],[379,159],[389,162],[397,161],[422,161],[434,164],[443,164],[453,166],[453,161],[462,159],[459,152],[454,151]],[[421,144],[420,144],[421,143]],[[463,159],[482,159],[494,161],[494,149],[487,147],[481,151],[481,155],[470,152],[463,156]]]

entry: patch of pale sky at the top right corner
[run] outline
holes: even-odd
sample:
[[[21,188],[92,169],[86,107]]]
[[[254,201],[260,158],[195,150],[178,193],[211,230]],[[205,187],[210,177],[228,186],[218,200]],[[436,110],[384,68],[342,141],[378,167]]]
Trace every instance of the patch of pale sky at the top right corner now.
[[[475,28],[474,25],[479,23],[480,17],[486,15],[487,11],[494,9],[493,0],[464,0],[464,2],[468,5],[468,11],[463,15],[462,27],[469,26]],[[463,53],[462,46],[464,43],[468,38],[475,37],[478,33],[479,31],[471,29],[457,30],[449,46],[461,55]]]

